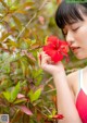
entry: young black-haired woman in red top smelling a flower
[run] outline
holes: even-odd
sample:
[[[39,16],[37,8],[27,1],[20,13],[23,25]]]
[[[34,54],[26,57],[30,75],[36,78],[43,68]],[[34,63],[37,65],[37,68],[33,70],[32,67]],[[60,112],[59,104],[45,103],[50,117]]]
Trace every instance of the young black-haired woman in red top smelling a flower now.
[[[55,13],[57,25],[77,59],[87,58],[87,3],[62,1]],[[87,123],[87,67],[66,76],[62,62],[53,64],[45,52],[41,69],[53,76],[57,88],[59,123]]]

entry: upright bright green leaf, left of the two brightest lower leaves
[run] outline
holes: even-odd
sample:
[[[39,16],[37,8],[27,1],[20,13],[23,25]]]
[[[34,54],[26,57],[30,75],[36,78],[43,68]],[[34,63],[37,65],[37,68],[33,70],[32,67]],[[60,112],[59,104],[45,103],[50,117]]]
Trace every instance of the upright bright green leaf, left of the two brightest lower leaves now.
[[[20,91],[20,83],[17,83],[17,85],[11,91],[11,102],[13,102],[16,99],[18,91]]]

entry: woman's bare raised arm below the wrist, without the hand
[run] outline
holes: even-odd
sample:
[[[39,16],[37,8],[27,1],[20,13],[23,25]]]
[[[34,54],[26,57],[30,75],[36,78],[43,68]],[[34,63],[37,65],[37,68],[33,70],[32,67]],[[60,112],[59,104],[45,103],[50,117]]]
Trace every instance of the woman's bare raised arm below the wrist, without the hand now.
[[[70,79],[72,79],[72,77],[73,76],[66,77],[65,73],[53,76],[57,88],[58,113],[64,115],[64,119],[59,120],[59,123],[82,123],[75,107],[74,95],[70,87]]]

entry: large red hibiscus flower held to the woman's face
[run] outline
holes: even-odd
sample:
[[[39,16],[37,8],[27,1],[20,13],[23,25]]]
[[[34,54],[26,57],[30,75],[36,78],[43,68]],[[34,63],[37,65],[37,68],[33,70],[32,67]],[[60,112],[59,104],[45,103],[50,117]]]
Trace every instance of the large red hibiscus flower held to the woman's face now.
[[[57,63],[64,57],[67,58],[69,46],[66,41],[60,40],[55,36],[50,36],[47,38],[47,46],[44,46],[44,51],[51,57],[51,60],[54,63]]]

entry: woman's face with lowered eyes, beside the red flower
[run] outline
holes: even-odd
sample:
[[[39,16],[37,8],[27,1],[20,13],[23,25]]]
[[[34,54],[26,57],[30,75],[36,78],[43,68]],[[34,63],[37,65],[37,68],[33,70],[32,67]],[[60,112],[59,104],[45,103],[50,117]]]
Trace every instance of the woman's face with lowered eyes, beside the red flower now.
[[[77,59],[87,58],[87,16],[83,15],[83,19],[63,28],[65,39]]]

